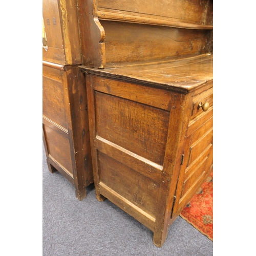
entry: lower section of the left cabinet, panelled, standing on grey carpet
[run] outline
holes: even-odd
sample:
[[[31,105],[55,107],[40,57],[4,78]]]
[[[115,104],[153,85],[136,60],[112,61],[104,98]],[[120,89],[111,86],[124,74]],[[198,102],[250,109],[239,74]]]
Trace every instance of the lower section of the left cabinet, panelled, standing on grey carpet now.
[[[77,66],[43,61],[42,127],[50,172],[58,170],[86,197],[93,182],[87,93]]]

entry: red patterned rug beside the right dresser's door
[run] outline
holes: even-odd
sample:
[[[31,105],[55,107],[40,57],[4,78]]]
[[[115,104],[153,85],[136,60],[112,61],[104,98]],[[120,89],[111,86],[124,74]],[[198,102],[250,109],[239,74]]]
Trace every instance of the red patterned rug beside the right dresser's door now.
[[[180,216],[213,241],[213,174],[182,210]]]

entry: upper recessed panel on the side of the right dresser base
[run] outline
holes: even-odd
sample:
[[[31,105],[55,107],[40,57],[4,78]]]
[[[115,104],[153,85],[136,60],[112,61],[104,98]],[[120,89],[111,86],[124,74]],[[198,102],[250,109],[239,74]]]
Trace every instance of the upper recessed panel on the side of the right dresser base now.
[[[169,112],[100,92],[95,105],[98,136],[163,164]]]

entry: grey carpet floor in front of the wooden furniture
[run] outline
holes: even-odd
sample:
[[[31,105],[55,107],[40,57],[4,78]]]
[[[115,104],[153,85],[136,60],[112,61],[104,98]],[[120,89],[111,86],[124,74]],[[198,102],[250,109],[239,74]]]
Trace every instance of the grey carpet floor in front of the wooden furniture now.
[[[78,201],[74,186],[48,170],[42,148],[42,255],[44,256],[210,256],[213,242],[181,217],[161,248],[153,232],[108,199],[97,201],[94,185]]]

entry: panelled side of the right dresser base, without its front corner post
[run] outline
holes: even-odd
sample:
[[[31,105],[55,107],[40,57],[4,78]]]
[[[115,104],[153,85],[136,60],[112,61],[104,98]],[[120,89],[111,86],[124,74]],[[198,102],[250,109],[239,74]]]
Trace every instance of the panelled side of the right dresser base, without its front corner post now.
[[[95,81],[95,83],[93,82]],[[169,101],[159,108],[159,89],[87,76],[96,193],[154,230],[169,123]],[[93,88],[93,89],[92,89]],[[135,100],[136,95],[138,100]],[[131,100],[133,98],[134,100]],[[93,109],[92,109],[93,108]]]

